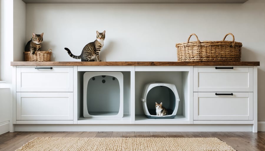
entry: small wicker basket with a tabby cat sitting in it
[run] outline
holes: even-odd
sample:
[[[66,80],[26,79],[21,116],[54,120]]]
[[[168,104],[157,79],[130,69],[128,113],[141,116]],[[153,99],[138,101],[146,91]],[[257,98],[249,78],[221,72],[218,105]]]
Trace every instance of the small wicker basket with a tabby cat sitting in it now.
[[[30,51],[24,52],[25,61],[37,61],[37,62],[51,61],[51,56],[52,56],[52,49],[49,49],[48,51],[36,51],[34,55]]]

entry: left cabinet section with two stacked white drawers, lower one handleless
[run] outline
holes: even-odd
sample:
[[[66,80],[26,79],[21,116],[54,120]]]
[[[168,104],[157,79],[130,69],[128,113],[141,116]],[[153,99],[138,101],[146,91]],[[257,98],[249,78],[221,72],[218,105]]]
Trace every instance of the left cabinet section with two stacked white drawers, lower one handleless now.
[[[73,67],[16,67],[16,123],[73,121],[73,81]]]

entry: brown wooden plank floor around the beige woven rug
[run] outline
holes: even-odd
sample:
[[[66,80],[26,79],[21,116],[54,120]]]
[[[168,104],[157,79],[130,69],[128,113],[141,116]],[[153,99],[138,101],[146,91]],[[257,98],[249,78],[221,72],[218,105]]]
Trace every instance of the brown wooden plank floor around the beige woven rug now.
[[[35,137],[218,137],[240,150],[265,150],[265,132],[7,132],[0,150],[16,150]]]

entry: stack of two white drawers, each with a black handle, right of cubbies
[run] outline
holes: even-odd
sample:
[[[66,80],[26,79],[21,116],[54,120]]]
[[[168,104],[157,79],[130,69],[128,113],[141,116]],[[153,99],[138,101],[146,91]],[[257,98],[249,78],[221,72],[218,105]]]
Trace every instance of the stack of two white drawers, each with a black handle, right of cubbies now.
[[[253,67],[194,67],[193,74],[193,120],[253,120]]]

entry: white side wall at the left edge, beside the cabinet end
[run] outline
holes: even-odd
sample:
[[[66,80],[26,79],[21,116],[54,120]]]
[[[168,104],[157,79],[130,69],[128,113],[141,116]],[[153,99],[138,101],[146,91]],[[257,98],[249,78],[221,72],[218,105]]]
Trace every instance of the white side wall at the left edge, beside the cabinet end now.
[[[12,120],[12,66],[10,62],[23,60],[24,48],[22,51],[21,48],[24,47],[26,31],[26,4],[21,0],[1,0],[0,15],[0,80],[6,81],[0,82],[1,134],[9,131],[9,121]],[[12,127],[10,125],[11,129]]]

